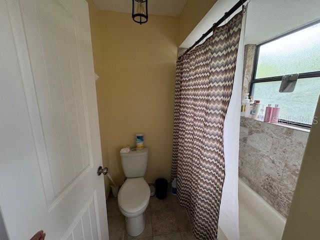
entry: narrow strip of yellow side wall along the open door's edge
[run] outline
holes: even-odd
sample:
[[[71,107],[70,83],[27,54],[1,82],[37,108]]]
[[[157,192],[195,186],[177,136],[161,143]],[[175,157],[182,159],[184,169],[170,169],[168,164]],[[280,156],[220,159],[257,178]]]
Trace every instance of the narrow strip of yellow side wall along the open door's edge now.
[[[108,154],[107,154],[107,139],[106,139],[106,125],[103,124],[106,120],[107,112],[104,110],[103,105],[103,58],[102,58],[102,41],[100,34],[100,24],[99,24],[99,10],[93,3],[93,0],[87,0],[89,6],[90,15],[90,27],[91,27],[91,40],[92,40],[92,51],[93,51],[93,62],[94,71],[100,76],[95,82],[96,87],[96,97],[98,105],[99,114],[99,128],[100,128],[100,138],[101,138],[101,150],[103,165],[108,166]],[[109,181],[107,177],[104,177],[106,194],[109,191]]]

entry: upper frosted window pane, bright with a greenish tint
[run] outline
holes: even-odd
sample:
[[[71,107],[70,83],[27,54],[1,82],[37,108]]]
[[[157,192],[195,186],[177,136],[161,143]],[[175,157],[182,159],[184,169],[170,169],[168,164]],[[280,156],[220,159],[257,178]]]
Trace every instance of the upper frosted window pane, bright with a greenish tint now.
[[[255,78],[320,71],[320,23],[260,46]]]

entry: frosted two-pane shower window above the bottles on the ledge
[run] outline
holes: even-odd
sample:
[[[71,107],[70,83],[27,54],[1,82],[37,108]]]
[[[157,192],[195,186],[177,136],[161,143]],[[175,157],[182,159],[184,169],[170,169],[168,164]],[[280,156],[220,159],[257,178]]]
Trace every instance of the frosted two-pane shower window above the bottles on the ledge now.
[[[293,92],[279,92],[282,76],[299,73]],[[320,23],[257,45],[250,95],[279,104],[279,121],[310,127],[320,94]]]

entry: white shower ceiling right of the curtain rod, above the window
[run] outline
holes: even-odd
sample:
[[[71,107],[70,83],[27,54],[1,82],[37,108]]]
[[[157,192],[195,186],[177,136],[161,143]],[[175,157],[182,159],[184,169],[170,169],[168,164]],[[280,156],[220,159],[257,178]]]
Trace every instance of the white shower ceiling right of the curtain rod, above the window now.
[[[245,43],[261,43],[320,18],[320,0],[251,0]]]

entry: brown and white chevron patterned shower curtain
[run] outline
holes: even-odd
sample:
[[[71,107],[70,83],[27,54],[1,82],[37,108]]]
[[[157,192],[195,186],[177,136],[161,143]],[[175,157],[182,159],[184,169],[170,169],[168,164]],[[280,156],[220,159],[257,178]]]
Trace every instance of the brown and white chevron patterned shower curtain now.
[[[216,239],[224,181],[223,123],[242,12],[177,61],[171,178],[198,240]]]

